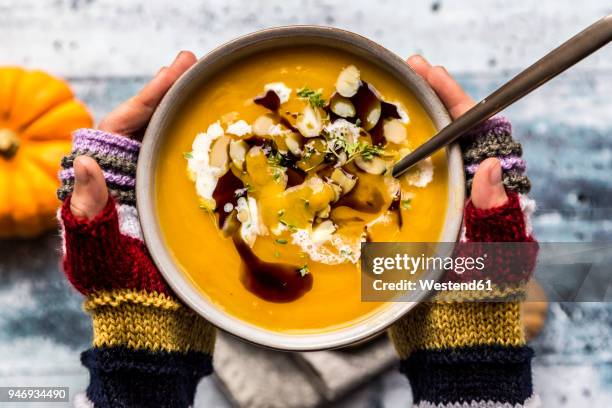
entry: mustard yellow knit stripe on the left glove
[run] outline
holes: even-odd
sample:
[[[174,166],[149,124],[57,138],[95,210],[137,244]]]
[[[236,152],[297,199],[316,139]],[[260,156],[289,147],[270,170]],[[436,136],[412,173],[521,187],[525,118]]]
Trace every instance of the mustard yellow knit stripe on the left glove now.
[[[214,327],[176,299],[158,293],[118,290],[88,297],[94,347],[212,354]]]

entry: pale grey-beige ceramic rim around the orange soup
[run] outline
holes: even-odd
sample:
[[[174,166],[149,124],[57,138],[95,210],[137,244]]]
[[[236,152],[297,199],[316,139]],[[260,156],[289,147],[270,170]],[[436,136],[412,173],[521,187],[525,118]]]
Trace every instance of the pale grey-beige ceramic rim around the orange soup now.
[[[286,41],[287,38],[290,38],[293,44],[300,41],[304,44],[315,42],[318,45],[341,48],[349,54],[362,58],[370,57],[371,63],[387,71],[403,86],[410,89],[425,108],[437,130],[450,123],[448,112],[431,87],[402,58],[372,40],[350,31],[316,25],[292,25],[256,31],[226,42],[206,54],[185,72],[162,98],[147,126],[139,153],[136,203],[144,241],[154,263],[176,295],[200,316],[225,332],[268,348],[285,351],[333,349],[376,336],[408,313],[418,301],[391,302],[355,324],[323,332],[293,334],[264,329],[230,315],[195,288],[190,278],[181,272],[178,262],[166,247],[156,217],[155,169],[157,153],[165,130],[164,125],[170,122],[168,119],[173,116],[173,111],[178,109],[193,91],[190,89],[190,83],[203,81],[206,74],[216,74],[224,65],[231,63],[231,58],[235,60],[249,53],[261,52],[255,50],[257,47],[270,49],[286,47],[286,44],[278,45],[278,43]],[[448,207],[439,241],[456,242],[463,219],[465,174],[459,146],[450,145],[446,153]],[[439,279],[439,274],[432,273],[430,277]],[[427,295],[423,293],[419,301]]]

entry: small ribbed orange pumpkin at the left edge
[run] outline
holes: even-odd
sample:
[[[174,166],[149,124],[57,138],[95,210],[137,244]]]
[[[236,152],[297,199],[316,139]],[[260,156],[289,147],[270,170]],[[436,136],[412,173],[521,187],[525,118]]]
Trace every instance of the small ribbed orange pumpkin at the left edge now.
[[[66,82],[0,67],[0,237],[32,237],[56,225],[60,160],[71,132],[92,123]]]

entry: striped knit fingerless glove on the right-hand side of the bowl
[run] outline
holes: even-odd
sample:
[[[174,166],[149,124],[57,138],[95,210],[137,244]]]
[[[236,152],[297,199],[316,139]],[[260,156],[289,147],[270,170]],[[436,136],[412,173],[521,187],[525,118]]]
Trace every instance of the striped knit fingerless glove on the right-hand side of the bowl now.
[[[508,194],[506,203],[488,210],[468,202],[465,240],[533,242],[526,216],[533,204],[523,196],[529,180],[523,175],[521,146],[512,139],[510,123],[503,118],[485,122],[463,139],[462,150],[468,191],[479,163],[497,157]],[[519,271],[516,289],[535,263],[536,252],[527,255],[526,273]],[[412,386],[415,405],[529,405],[534,399],[533,353],[525,343],[520,310],[518,301],[428,302],[396,323],[390,336],[402,359],[400,369]]]

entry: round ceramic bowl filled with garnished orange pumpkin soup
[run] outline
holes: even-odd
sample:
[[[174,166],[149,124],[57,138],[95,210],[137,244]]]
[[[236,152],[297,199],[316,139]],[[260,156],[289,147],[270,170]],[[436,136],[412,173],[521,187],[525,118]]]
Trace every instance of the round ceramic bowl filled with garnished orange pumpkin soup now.
[[[362,301],[362,243],[457,240],[459,148],[399,179],[390,170],[449,121],[401,58],[357,34],[240,37],[187,71],[147,128],[147,247],[176,294],[224,331],[282,350],[363,341],[419,299]]]

